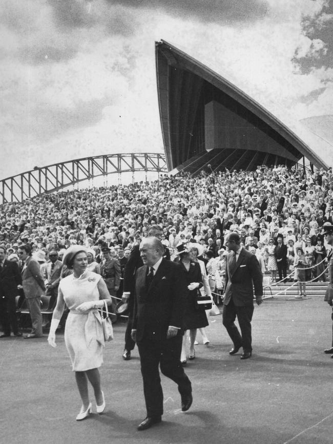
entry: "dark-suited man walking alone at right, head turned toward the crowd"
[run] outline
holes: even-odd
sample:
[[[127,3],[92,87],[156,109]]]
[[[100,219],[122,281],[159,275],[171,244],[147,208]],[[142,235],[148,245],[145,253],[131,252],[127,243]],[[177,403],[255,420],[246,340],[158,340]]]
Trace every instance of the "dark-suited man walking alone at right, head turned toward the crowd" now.
[[[234,344],[229,354],[236,354],[243,347],[244,360],[252,355],[253,297],[255,293],[257,304],[262,303],[262,273],[256,256],[240,246],[237,233],[231,233],[225,245],[231,252],[226,257],[223,325]],[[241,334],[235,325],[236,316]]]

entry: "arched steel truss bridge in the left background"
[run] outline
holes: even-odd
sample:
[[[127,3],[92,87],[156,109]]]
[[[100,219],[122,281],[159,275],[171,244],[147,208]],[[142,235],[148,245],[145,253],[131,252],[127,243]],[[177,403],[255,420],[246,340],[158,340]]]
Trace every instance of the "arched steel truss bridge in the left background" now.
[[[1,181],[0,203],[21,202],[95,177],[130,172],[165,174],[168,169],[159,153],[106,154],[35,167]]]

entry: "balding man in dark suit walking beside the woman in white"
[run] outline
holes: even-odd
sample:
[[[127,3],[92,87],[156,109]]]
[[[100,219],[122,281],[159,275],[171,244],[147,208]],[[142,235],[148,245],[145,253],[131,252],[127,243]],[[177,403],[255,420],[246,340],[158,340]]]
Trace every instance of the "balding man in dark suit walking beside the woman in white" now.
[[[163,259],[158,239],[140,243],[143,266],[136,272],[132,338],[141,361],[147,417],[138,426],[145,430],[161,421],[163,392],[161,372],[177,385],[182,411],[192,405],[192,386],[180,363],[186,277],[182,267]]]

